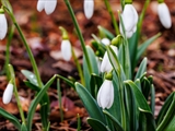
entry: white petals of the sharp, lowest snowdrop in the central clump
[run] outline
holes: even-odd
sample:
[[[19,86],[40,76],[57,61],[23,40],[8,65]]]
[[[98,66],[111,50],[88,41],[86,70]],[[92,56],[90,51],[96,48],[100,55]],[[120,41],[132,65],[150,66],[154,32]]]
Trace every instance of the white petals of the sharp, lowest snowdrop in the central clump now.
[[[105,80],[97,93],[97,104],[103,109],[109,109],[114,102],[114,86],[110,80]]]

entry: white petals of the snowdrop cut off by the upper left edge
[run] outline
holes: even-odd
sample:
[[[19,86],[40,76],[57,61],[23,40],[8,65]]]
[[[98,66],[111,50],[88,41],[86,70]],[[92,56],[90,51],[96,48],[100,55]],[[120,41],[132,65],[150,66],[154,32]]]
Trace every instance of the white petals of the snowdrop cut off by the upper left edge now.
[[[8,32],[8,22],[4,14],[0,14],[0,39],[3,39]]]

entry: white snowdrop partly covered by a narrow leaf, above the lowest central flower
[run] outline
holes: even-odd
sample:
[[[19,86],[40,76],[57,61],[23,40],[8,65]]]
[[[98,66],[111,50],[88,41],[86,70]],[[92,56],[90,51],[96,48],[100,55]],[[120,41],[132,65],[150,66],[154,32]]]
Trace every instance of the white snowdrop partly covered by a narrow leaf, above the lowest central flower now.
[[[114,52],[118,56],[118,48],[116,46],[110,46]],[[102,64],[101,64],[101,72],[109,72],[113,69],[112,63],[109,61],[107,51],[105,52]]]

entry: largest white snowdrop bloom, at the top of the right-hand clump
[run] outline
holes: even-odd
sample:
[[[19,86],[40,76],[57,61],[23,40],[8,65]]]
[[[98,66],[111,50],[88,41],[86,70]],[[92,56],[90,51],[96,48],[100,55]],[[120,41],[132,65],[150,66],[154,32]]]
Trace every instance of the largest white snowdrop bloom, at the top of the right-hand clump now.
[[[121,14],[127,38],[130,38],[137,31],[138,13],[132,4],[126,4]],[[124,34],[121,23],[120,33]]]

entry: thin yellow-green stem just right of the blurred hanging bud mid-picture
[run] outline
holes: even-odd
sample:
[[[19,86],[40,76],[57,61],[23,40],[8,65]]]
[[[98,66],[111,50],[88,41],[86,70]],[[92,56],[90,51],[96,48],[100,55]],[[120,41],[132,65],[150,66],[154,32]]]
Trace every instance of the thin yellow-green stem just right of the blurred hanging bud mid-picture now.
[[[82,69],[81,69],[80,62],[79,62],[79,60],[78,60],[78,58],[77,58],[77,56],[75,56],[75,53],[74,53],[73,47],[71,47],[71,49],[72,49],[73,60],[74,60],[75,66],[77,66],[77,68],[78,68],[78,72],[79,72],[79,76],[80,76],[80,80],[81,80],[81,84],[82,84],[82,85],[85,85],[84,76],[83,76],[83,71],[82,71]]]

